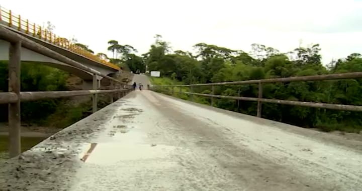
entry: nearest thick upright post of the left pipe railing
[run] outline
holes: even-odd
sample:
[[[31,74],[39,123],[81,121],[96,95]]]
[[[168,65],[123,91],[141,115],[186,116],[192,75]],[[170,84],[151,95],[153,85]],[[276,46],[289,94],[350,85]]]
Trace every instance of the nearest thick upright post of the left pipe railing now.
[[[21,42],[11,43],[9,47],[9,92],[16,93],[18,101],[9,104],[9,155],[21,153],[20,137],[20,65]]]

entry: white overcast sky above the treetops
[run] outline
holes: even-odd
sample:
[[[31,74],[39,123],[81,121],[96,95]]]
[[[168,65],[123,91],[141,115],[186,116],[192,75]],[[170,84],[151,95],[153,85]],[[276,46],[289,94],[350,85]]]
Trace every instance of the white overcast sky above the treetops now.
[[[362,1],[2,0],[1,6],[38,24],[50,21],[57,35],[74,36],[96,53],[117,40],[142,54],[155,34],[172,50],[185,51],[201,42],[245,52],[253,43],[281,52],[300,40],[304,46],[319,43],[323,64],[362,53]]]

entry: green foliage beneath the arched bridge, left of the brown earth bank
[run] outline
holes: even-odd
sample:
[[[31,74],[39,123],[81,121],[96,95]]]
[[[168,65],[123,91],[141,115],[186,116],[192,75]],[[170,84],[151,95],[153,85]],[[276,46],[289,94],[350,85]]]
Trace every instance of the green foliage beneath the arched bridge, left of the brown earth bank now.
[[[22,62],[21,66],[21,91],[57,91],[66,90],[66,79],[68,74],[58,69],[43,66],[36,63]],[[8,63],[0,62],[0,91],[8,91]],[[22,121],[37,121],[46,118],[53,113],[60,99],[38,100],[22,102]],[[41,111],[41,112],[39,112]],[[0,120],[7,120],[7,105],[0,106]]]

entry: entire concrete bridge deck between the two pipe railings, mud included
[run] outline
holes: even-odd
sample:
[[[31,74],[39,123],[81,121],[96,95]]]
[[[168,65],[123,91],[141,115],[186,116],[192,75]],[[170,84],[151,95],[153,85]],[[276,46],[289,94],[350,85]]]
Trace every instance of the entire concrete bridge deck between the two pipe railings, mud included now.
[[[362,142],[143,90],[0,174],[0,190],[361,190]]]

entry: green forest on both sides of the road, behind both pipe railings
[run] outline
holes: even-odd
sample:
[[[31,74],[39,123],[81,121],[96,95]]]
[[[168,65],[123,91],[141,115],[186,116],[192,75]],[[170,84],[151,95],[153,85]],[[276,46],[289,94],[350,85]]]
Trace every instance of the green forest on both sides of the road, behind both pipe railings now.
[[[231,50],[217,45],[198,43],[193,46],[194,53],[191,53],[182,50],[173,51],[170,43],[162,40],[162,36],[156,35],[155,42],[150,45],[149,51],[142,55],[137,55],[138,51],[134,47],[121,45],[116,40],[110,40],[107,44],[112,58],[109,58],[106,53],[97,53],[97,56],[133,73],[144,73],[146,69],[148,71],[160,71],[162,78],[153,79],[153,83],[158,85],[242,81],[362,71],[362,56],[358,53],[346,55],[345,58],[323,65],[320,54],[321,48],[318,44],[298,47],[287,53],[281,53],[272,47],[252,44],[251,51],[247,53],[242,50]],[[93,52],[87,45],[80,43],[77,45]],[[68,77],[69,74],[54,68],[38,64],[23,64],[22,91],[66,90]],[[7,91],[6,62],[0,63],[0,78],[0,91]],[[211,93],[211,87],[194,88],[194,91],[208,94]],[[215,94],[257,97],[257,86],[254,84],[217,86]],[[180,97],[189,99],[186,95]],[[270,83],[263,85],[263,97],[362,105],[362,86],[360,79]],[[210,98],[197,97],[195,101],[210,104]],[[56,108],[60,104],[59,100],[22,103],[22,119],[27,121],[47,118],[56,112]],[[256,102],[251,101],[216,99],[214,106],[256,115],[256,104]],[[1,105],[0,109],[5,111],[7,105]],[[37,112],[38,110],[46,112]],[[81,116],[81,114],[77,115]],[[80,116],[74,120],[78,120]],[[306,128],[319,128],[324,131],[360,132],[362,130],[362,113],[360,112],[263,103],[262,117]],[[6,121],[6,118],[2,115],[0,120]]]

